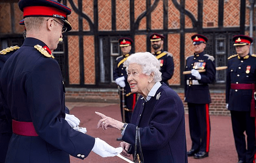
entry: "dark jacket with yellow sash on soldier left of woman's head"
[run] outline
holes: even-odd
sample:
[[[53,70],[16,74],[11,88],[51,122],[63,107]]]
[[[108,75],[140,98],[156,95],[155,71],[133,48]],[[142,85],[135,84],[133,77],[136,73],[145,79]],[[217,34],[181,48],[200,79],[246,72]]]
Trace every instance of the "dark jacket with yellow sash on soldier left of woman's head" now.
[[[129,83],[127,82],[127,72],[126,72],[126,67],[123,67],[123,62],[127,60],[127,58],[131,54],[126,54],[125,56],[119,56],[116,58],[116,68],[114,69],[113,77],[114,80],[116,80],[118,77],[125,77],[125,94],[129,95],[131,94],[131,88],[129,86]]]

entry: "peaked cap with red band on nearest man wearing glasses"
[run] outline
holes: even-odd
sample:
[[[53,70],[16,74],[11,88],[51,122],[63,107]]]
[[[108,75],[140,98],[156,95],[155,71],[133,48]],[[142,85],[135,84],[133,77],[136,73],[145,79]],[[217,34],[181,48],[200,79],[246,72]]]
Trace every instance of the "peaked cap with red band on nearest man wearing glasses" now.
[[[70,15],[71,9],[55,0],[20,0],[20,10],[25,17],[56,17],[64,22],[67,31],[72,26],[67,21],[67,15]]]

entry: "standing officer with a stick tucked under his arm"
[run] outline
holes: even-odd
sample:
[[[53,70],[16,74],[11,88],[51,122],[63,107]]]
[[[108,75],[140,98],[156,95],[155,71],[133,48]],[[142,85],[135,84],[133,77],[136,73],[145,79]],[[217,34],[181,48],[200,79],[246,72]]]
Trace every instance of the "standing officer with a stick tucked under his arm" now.
[[[194,55],[186,58],[186,69],[191,74],[185,75],[185,102],[188,102],[189,130],[192,147],[188,157],[195,159],[208,157],[210,148],[210,116],[211,103],[208,84],[215,81],[214,57],[205,54],[204,49],[208,39],[201,34],[191,37],[194,45]],[[198,70],[205,69],[203,73]]]

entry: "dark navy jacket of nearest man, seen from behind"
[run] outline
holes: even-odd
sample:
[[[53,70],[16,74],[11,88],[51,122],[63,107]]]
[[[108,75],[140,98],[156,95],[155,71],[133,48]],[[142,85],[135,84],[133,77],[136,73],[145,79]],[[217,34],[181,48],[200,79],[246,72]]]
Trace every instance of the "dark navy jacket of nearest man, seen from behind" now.
[[[42,55],[26,38],[4,64],[0,95],[9,121],[33,122],[39,136],[13,134],[6,163],[69,163],[69,154],[83,159],[94,137],[75,131],[65,118],[65,94],[59,64]]]

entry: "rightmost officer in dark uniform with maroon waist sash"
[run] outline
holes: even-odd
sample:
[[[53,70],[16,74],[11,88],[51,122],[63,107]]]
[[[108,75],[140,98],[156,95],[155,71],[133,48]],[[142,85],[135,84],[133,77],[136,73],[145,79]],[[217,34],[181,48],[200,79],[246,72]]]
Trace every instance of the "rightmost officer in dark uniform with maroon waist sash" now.
[[[233,41],[237,54],[228,58],[226,103],[231,113],[238,163],[254,163],[256,55],[249,53],[251,37],[236,35]]]

